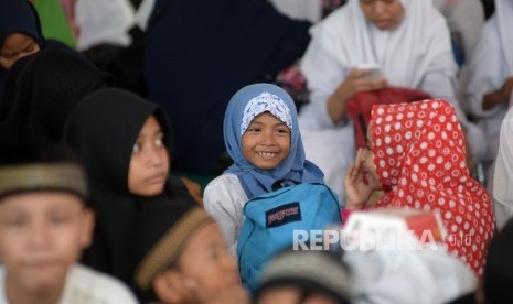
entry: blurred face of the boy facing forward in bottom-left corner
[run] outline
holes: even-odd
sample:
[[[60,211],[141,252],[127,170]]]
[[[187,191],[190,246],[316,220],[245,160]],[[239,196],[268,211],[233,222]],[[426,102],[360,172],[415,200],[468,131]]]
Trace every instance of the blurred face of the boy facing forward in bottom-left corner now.
[[[62,287],[90,242],[93,213],[63,192],[13,194],[0,200],[0,259],[8,284],[24,294]]]

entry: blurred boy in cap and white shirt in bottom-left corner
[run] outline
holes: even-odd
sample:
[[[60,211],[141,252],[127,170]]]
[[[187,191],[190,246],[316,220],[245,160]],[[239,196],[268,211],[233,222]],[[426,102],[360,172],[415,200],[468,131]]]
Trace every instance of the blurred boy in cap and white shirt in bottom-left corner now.
[[[60,146],[0,150],[0,303],[137,303],[77,264],[90,243],[86,178]]]

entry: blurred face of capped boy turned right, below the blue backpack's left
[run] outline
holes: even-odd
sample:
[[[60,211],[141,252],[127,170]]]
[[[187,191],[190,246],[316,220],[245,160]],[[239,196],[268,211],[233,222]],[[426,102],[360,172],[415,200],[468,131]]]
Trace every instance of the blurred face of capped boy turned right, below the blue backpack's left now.
[[[192,236],[180,256],[178,269],[184,284],[191,286],[200,302],[241,285],[237,264],[226,250],[215,222],[201,227]]]

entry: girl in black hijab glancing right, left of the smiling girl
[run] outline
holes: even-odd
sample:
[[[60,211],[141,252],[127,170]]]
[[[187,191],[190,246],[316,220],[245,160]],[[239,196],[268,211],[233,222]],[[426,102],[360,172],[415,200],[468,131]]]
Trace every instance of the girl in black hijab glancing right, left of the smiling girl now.
[[[169,176],[170,126],[157,104],[126,90],[90,94],[64,131],[85,164],[97,210],[93,246],[84,263],[131,284],[130,229],[145,206],[196,205],[184,184]]]

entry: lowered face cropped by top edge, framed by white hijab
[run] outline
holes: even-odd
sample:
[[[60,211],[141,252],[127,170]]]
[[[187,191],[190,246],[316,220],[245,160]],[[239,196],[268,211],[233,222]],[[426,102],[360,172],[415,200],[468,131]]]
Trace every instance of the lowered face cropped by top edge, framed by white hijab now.
[[[404,8],[399,0],[360,0],[360,6],[365,18],[382,31],[393,30],[403,21]]]

